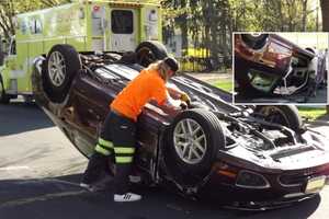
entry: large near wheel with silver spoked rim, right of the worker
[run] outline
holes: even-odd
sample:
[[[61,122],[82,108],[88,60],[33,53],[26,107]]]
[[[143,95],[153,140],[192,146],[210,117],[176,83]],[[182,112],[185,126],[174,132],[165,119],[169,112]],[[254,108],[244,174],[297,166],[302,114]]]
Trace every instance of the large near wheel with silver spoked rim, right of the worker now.
[[[219,149],[225,147],[225,136],[215,114],[189,110],[174,118],[166,142],[167,170],[181,185],[195,186],[211,172]]]

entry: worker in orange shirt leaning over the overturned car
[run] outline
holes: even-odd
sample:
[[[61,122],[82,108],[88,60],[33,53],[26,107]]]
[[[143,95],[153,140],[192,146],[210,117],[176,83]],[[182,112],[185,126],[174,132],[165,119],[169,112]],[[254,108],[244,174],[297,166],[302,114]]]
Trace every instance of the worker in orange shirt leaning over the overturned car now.
[[[127,87],[118,93],[110,105],[94,153],[83,174],[81,186],[92,188],[92,183],[106,170],[109,158],[114,153],[116,174],[114,176],[114,201],[135,201],[140,195],[128,192],[128,176],[136,150],[136,122],[146,103],[151,100],[167,105],[173,111],[181,110],[190,97],[174,90],[173,100],[168,93],[166,82],[175,74],[179,65],[174,58],[167,57],[144,69]]]

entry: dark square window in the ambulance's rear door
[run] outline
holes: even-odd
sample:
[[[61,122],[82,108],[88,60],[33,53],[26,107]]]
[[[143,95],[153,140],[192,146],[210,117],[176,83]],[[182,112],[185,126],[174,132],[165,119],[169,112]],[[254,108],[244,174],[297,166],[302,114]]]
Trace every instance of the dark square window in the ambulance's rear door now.
[[[134,16],[132,11],[113,10],[111,14],[112,33],[132,34],[134,32]]]

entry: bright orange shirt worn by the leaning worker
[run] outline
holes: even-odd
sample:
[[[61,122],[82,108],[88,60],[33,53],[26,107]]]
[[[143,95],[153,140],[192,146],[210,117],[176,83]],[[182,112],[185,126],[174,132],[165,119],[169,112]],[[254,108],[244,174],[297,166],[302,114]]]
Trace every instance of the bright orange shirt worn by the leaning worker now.
[[[164,80],[156,70],[143,70],[122,90],[110,107],[124,116],[137,120],[146,103],[156,100],[159,105],[167,99]]]

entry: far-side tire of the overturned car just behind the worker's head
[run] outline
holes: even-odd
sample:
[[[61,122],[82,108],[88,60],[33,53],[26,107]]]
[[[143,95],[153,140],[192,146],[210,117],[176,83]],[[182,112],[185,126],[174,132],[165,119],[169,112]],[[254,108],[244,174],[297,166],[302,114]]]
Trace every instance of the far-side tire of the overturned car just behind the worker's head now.
[[[135,51],[137,54],[137,62],[144,67],[148,67],[151,62],[168,56],[164,45],[156,41],[141,42]]]

